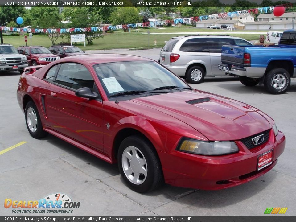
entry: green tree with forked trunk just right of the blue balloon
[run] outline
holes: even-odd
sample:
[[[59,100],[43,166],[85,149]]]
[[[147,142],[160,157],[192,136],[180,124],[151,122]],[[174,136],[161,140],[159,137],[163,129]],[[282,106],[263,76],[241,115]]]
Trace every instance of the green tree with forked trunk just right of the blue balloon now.
[[[30,10],[30,15],[32,19],[32,25],[40,28],[61,28],[62,23],[60,10],[57,7],[32,7]],[[51,43],[55,45],[58,38],[61,36],[60,32],[49,32],[47,33],[48,38]]]

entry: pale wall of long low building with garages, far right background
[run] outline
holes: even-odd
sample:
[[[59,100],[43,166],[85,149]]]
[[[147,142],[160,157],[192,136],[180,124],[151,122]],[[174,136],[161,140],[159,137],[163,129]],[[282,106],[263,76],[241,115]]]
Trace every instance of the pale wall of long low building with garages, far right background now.
[[[293,29],[295,27],[294,21],[272,21],[272,22],[252,22],[245,23],[246,30],[284,30],[284,29]]]

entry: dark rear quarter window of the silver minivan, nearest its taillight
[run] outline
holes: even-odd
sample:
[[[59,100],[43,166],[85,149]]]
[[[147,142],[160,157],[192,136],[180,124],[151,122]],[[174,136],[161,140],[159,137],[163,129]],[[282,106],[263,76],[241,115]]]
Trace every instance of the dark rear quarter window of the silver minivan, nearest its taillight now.
[[[186,40],[180,47],[180,51],[209,52],[207,38],[194,38]]]

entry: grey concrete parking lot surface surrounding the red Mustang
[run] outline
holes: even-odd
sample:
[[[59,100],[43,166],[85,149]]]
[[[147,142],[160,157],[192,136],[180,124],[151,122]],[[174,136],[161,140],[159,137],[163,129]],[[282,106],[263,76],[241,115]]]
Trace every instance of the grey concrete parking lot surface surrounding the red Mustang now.
[[[158,60],[160,49],[122,50]],[[88,53],[116,53],[116,50]],[[4,199],[39,200],[50,194],[67,194],[80,202],[71,215],[264,215],[267,207],[286,207],[296,215],[296,78],[282,95],[264,86],[246,87],[233,77],[208,77],[193,88],[230,97],[271,116],[286,136],[286,149],[267,174],[238,187],[203,191],[172,187],[139,194],[126,187],[117,165],[110,165],[52,135],[30,136],[16,99],[18,72],[2,73],[0,88],[0,215],[61,215],[13,213]],[[20,145],[20,143],[23,144]],[[1,154],[1,150],[19,146]],[[65,215],[65,214],[62,214]],[[67,214],[70,215],[70,214]]]

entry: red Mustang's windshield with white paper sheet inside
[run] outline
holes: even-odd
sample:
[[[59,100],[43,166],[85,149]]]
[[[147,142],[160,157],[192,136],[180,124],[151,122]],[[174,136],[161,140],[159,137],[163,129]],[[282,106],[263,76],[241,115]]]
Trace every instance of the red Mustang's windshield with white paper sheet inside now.
[[[113,62],[94,65],[94,69],[107,96],[116,94],[116,88],[117,92],[152,91],[163,86],[188,88],[186,83],[157,62]]]

